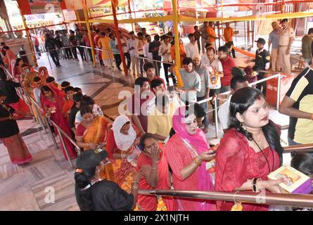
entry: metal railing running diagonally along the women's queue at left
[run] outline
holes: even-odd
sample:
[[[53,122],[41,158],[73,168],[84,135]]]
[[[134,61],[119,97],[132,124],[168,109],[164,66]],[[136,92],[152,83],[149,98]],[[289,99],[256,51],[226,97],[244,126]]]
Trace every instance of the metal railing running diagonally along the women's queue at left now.
[[[11,75],[10,72],[8,72],[8,70],[6,68],[4,68],[4,70],[5,70],[7,75],[9,75],[12,79],[14,79],[14,77]],[[56,127],[58,134],[60,136],[61,144],[63,145],[63,148],[65,150],[65,155],[68,158],[68,162],[70,163],[70,166],[72,168],[74,168],[74,166],[72,165],[72,161],[70,160],[70,156],[68,154],[68,148],[66,148],[66,145],[65,145],[64,137],[66,139],[68,139],[73,144],[73,146],[75,146],[75,148],[77,149],[77,155],[80,155],[80,148],[79,148],[79,146],[77,146],[77,143],[70,136],[68,136],[68,134],[66,134],[65,131],[63,131],[63,129],[61,129],[58,126],[58,124],[53,122],[53,120],[50,120],[49,117],[42,116],[42,118],[44,119],[44,122],[42,122],[41,115],[42,115],[42,113],[44,113],[44,110],[40,107],[40,105],[38,105],[38,103],[34,100],[34,98],[32,98],[32,96],[30,96],[30,94],[27,93],[27,91],[24,89],[23,86],[18,87],[18,89],[20,89],[20,97],[22,97],[24,101],[25,101],[25,96],[27,96],[25,102],[30,107],[30,110],[32,110],[32,105],[34,106],[36,113],[37,113],[38,120],[39,120],[39,124],[41,125],[41,127],[45,131],[45,133],[46,133],[46,127],[44,126],[44,123],[46,124],[47,129],[49,131],[49,134],[51,136],[51,139],[52,139],[54,145],[56,146],[56,148],[58,148],[58,144],[56,143],[56,139],[54,138],[53,133],[49,127],[49,123],[53,124],[53,126]],[[34,116],[33,112],[32,112],[32,115]],[[63,135],[60,135],[60,134],[63,134]]]

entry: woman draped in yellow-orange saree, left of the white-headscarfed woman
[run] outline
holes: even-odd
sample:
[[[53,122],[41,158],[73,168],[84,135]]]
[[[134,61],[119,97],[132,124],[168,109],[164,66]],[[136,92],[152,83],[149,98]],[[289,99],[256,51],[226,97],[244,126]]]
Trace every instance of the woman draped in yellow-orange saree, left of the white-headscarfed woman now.
[[[109,122],[103,116],[94,118],[92,109],[87,105],[82,106],[80,112],[82,122],[78,124],[76,129],[77,146],[84,150],[104,148]],[[104,166],[101,177],[116,182],[111,163]]]

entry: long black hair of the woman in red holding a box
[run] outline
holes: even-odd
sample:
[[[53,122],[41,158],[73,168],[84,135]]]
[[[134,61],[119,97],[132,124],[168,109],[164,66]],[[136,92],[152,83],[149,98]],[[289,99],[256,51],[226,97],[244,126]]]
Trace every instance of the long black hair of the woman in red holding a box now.
[[[251,87],[244,87],[235,92],[231,96],[231,103],[229,106],[229,129],[235,128],[238,132],[243,134],[248,140],[253,140],[253,135],[247,130],[243,129],[241,122],[237,119],[236,114],[240,113],[243,115],[248,108],[255,103],[256,100],[264,98],[262,92],[258,89]],[[280,164],[283,162],[283,148],[281,147],[281,141],[279,134],[277,134],[274,128],[274,123],[269,122],[267,125],[262,127],[263,134],[267,143],[272,149],[276,150],[279,154]]]

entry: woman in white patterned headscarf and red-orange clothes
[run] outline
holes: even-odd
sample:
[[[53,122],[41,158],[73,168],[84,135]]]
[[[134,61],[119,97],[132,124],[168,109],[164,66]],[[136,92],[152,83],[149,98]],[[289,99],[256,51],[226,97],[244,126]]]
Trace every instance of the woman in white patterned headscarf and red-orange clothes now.
[[[112,130],[108,132],[106,149],[113,163],[113,170],[117,184],[129,191],[132,184],[132,171],[137,166],[137,158],[141,150],[139,145],[140,131],[134,128],[126,115],[116,117]]]

